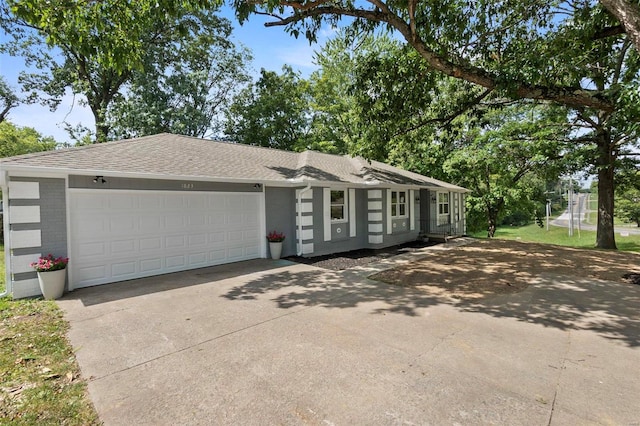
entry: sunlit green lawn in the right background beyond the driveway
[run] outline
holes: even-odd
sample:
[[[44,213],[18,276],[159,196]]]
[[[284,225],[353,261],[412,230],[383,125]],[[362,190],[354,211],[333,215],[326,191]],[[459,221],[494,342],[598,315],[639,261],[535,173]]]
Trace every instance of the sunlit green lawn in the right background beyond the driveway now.
[[[482,231],[472,234],[472,236],[485,238],[487,233]],[[596,243],[595,231],[580,231],[580,236],[578,236],[578,230],[574,229],[573,237],[569,237],[567,228],[551,226],[547,231],[536,224],[498,228],[495,237],[505,240],[521,240],[576,248],[594,248]],[[616,233],[616,244],[621,251],[640,252],[640,235],[622,237],[619,233]]]

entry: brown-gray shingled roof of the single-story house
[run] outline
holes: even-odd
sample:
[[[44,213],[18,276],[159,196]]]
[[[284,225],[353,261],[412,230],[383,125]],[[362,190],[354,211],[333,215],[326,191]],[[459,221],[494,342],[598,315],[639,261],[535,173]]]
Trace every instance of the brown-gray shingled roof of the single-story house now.
[[[161,133],[0,159],[0,169],[265,182],[342,182],[464,188],[361,157],[281,151]]]

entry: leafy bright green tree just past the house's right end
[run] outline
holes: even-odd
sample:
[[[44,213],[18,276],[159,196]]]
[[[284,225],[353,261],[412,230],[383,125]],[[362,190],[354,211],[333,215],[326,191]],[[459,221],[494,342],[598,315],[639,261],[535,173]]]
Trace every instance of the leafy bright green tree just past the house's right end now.
[[[565,114],[563,108],[527,104],[489,111],[466,132],[468,143],[445,161],[444,170],[472,189],[470,221],[474,213],[482,215],[489,237],[506,211],[524,209],[533,216],[541,182],[563,171]]]

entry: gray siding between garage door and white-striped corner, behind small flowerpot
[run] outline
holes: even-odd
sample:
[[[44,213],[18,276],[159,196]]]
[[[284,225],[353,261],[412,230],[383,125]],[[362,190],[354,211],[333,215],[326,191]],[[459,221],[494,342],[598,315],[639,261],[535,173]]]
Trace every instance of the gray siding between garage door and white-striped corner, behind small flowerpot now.
[[[292,188],[266,187],[265,211],[267,233],[274,230],[284,232],[285,240],[282,243],[282,256],[294,256],[297,253],[296,190]],[[267,253],[267,256],[271,256],[271,253]]]

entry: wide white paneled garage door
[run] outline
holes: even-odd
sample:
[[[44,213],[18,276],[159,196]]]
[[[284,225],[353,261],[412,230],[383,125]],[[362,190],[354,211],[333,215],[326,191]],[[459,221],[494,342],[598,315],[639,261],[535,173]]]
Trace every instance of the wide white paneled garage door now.
[[[70,191],[74,288],[260,257],[261,194]]]

